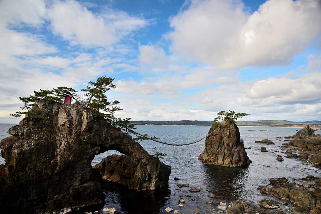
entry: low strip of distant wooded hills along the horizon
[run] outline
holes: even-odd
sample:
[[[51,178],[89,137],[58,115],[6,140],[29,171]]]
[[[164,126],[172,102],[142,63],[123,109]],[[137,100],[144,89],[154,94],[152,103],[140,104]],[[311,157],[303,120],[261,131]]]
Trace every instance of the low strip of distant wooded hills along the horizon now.
[[[311,120],[304,122],[293,122],[288,120],[256,120],[256,121],[236,121],[238,126],[287,126],[287,125],[319,125],[321,121]],[[198,121],[198,120],[179,120],[179,121],[153,121],[139,120],[132,121],[131,124],[137,125],[212,125],[213,121]]]

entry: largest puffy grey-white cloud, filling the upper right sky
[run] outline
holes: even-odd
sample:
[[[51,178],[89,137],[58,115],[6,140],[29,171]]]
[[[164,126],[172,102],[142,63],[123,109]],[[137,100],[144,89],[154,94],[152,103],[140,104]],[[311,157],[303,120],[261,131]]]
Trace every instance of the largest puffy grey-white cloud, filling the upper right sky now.
[[[170,19],[172,48],[220,69],[289,64],[321,32],[318,0],[268,0],[249,15],[237,0],[192,0]]]

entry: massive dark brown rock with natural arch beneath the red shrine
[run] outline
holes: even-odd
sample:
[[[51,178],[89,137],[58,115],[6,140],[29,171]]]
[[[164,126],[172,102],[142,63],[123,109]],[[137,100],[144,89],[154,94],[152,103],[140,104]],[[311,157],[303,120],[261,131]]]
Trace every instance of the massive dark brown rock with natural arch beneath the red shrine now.
[[[45,100],[38,105],[51,111],[35,106],[41,115],[25,117],[9,129],[13,136],[0,141],[6,159],[0,165],[0,211],[52,213],[104,203],[102,176],[91,161],[108,150],[127,157],[122,160],[124,173],[113,181],[135,190],[168,184],[169,166],[104,118],[93,117],[88,108]]]

